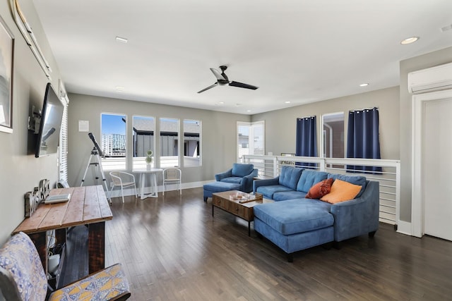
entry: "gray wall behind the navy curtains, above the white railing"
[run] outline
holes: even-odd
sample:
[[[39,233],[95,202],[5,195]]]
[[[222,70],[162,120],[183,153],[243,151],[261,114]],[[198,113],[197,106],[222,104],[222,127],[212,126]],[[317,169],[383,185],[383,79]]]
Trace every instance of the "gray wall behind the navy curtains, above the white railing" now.
[[[282,152],[295,153],[297,118],[315,115],[317,116],[317,128],[320,128],[323,114],[343,111],[345,141],[347,141],[348,111],[377,106],[380,117],[381,158],[399,159],[399,133],[398,130],[394,130],[399,128],[398,97],[398,87],[391,87],[260,113],[252,116],[252,121],[266,121],[266,153],[273,152],[273,154],[279,155]],[[317,149],[320,150],[319,130],[317,130],[317,134]]]

